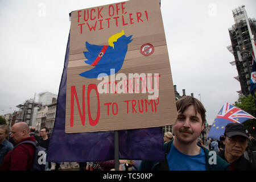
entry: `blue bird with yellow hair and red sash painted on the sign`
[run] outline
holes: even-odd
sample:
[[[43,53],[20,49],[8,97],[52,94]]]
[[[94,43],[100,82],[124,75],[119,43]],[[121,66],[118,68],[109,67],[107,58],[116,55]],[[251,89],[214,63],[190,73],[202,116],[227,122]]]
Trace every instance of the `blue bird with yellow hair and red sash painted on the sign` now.
[[[109,46],[97,46],[86,42],[88,51],[84,52],[87,59],[85,63],[94,68],[79,75],[85,78],[97,78],[100,73],[106,73],[106,75],[117,73],[123,66],[128,44],[133,41],[132,36],[125,36],[122,30],[109,38]],[[110,69],[114,69],[114,72],[110,72]]]

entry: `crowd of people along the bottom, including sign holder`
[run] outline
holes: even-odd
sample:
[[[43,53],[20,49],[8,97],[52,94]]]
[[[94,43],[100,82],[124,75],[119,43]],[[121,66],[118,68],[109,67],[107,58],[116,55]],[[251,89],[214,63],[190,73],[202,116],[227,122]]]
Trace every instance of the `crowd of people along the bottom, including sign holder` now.
[[[185,96],[176,101],[176,107],[178,114],[172,127],[173,134],[169,131],[163,136],[166,154],[164,160],[119,160],[119,170],[256,171],[256,164],[246,155],[251,136],[245,126],[241,123],[229,123],[225,127],[224,135],[219,140],[213,139],[208,150],[199,138],[205,123],[206,110],[203,104],[192,96]],[[43,127],[39,137],[34,128],[19,122],[11,127],[10,132],[9,134],[9,126],[0,126],[0,171],[31,169],[35,147],[29,143],[19,143],[30,140],[47,150],[50,140],[48,128]],[[16,146],[17,144],[19,145]],[[60,165],[61,163],[55,163],[54,169],[59,170]],[[47,163],[45,170],[51,168],[51,163]],[[79,163],[79,170],[114,170],[114,160]]]

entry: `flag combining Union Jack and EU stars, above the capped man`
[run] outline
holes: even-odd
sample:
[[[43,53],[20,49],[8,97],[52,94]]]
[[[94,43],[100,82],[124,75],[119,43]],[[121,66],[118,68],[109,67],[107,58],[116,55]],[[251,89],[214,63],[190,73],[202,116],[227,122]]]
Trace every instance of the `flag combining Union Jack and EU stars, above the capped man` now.
[[[208,134],[208,138],[219,140],[221,135],[224,135],[225,127],[228,123],[243,123],[248,119],[255,119],[252,115],[226,102],[217,117],[214,119],[212,127]]]

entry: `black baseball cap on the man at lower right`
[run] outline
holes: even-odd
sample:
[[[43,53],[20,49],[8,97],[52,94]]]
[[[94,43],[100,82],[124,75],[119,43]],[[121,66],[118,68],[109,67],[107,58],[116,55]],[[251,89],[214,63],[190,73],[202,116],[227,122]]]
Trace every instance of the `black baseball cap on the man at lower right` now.
[[[227,137],[233,137],[234,135],[241,135],[249,139],[249,132],[245,126],[240,123],[228,123],[225,127],[224,135]]]

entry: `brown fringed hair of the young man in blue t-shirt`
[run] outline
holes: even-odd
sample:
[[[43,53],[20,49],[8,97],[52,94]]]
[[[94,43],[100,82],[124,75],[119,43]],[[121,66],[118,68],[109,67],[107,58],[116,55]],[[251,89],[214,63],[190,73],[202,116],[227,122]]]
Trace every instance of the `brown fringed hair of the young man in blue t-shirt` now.
[[[203,104],[199,100],[197,100],[196,98],[194,98],[192,96],[184,96],[176,101],[177,111],[180,113],[183,113],[191,105],[193,105],[195,107],[196,114],[197,114],[197,112],[199,112],[199,114],[201,115],[202,121],[204,123],[206,120],[205,119],[206,110],[205,110]]]

